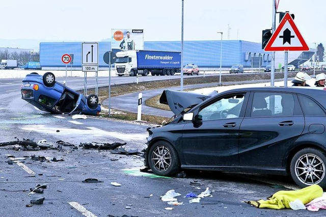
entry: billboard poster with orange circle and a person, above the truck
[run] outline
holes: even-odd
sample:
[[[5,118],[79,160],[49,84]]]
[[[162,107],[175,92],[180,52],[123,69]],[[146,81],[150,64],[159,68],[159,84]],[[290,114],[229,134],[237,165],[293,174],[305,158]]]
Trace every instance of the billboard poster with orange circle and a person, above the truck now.
[[[111,48],[121,50],[143,50],[144,30],[112,29]]]

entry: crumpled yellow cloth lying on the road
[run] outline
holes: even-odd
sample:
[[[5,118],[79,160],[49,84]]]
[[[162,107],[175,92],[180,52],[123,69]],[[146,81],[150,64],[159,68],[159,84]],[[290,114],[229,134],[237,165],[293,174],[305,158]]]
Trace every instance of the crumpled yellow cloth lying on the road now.
[[[279,191],[267,198],[267,200],[247,201],[247,203],[257,208],[291,208],[290,202],[295,201],[296,199],[301,200],[303,204],[307,204],[313,199],[321,197],[322,193],[322,188],[319,185],[314,184],[295,191]]]

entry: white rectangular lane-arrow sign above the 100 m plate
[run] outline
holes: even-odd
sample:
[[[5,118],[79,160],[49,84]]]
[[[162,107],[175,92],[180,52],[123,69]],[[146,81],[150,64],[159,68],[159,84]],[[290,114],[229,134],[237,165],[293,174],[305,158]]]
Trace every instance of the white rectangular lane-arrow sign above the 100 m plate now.
[[[82,64],[98,64],[98,43],[82,43]]]

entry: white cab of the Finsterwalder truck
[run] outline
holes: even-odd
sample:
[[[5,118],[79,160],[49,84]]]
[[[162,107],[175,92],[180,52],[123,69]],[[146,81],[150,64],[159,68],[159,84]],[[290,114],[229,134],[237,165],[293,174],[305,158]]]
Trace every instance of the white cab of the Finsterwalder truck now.
[[[116,74],[118,76],[130,75],[136,76],[137,70],[137,51],[126,50],[116,53],[117,59],[115,62]]]

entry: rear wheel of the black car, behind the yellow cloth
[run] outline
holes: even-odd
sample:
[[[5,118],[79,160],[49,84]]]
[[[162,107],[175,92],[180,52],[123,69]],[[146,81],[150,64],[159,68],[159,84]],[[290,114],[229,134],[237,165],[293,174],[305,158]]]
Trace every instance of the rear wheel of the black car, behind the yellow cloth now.
[[[326,187],[326,156],[315,148],[298,151],[291,160],[290,173],[294,182],[300,187],[318,184]]]

